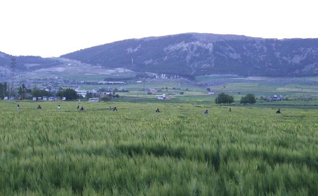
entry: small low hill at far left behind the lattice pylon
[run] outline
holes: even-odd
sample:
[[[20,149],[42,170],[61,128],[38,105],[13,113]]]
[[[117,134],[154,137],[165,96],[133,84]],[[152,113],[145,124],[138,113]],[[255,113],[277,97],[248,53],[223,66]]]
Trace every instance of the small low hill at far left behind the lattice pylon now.
[[[0,52],[0,81],[9,78],[12,58],[16,59],[17,74],[61,64],[59,60],[52,58],[42,58],[39,56],[12,56]]]

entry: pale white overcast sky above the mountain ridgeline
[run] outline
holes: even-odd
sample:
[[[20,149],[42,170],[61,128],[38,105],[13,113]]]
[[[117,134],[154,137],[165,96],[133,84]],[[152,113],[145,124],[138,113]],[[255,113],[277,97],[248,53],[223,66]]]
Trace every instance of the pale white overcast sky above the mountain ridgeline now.
[[[316,0],[1,0],[0,51],[58,57],[186,32],[318,38]]]

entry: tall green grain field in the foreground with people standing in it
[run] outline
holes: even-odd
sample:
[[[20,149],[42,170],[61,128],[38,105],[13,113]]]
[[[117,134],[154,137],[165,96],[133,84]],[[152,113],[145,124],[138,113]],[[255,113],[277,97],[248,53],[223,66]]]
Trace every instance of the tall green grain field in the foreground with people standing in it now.
[[[0,196],[318,194],[315,109],[40,104],[0,101]]]

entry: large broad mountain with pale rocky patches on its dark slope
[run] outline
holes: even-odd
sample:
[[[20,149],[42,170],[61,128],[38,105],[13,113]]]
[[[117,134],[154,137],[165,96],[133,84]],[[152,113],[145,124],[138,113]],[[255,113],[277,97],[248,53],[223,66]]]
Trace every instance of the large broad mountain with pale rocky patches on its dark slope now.
[[[123,40],[61,57],[106,68],[179,75],[318,75],[318,39],[184,33]]]

